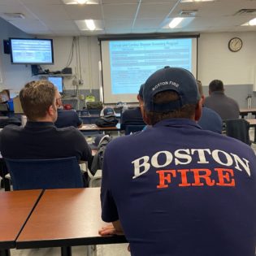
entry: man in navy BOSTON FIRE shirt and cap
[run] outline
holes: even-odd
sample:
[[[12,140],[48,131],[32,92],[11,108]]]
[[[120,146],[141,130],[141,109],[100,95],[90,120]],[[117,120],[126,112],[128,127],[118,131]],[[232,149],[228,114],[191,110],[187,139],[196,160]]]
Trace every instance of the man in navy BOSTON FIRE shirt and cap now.
[[[193,75],[145,81],[143,132],[111,141],[102,170],[104,235],[124,232],[132,256],[253,256],[256,158],[241,141],[202,130]]]

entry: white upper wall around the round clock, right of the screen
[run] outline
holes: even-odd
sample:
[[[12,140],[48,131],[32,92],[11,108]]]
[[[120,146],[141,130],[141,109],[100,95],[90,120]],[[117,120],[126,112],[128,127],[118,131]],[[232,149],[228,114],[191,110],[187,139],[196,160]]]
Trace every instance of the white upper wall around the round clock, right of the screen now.
[[[243,47],[233,53],[228,50],[228,41],[241,37]],[[256,33],[203,33],[198,40],[198,79],[202,85],[210,80],[223,80],[224,85],[254,83],[256,65]]]

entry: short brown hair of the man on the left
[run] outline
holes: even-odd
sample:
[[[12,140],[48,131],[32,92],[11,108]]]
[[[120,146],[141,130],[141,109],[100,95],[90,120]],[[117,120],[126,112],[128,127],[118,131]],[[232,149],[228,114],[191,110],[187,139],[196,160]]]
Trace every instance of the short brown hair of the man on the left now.
[[[36,80],[24,85],[20,90],[20,103],[28,119],[35,121],[46,116],[54,104],[56,88],[48,80]]]

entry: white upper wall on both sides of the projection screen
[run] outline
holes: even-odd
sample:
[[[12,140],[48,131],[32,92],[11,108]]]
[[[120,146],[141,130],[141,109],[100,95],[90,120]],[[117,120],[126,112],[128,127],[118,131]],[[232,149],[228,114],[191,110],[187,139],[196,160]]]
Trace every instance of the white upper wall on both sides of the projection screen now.
[[[239,52],[228,50],[228,41],[232,37],[241,37],[243,47]],[[46,68],[61,70],[67,63],[72,46],[72,37],[53,37],[54,66]],[[100,47],[97,37],[80,37],[81,74],[84,85],[80,89],[99,89],[98,61]],[[256,67],[256,33],[202,33],[198,39],[198,76],[202,85],[209,85],[210,80],[223,80],[225,85],[254,84]],[[71,65],[77,71],[76,54]],[[72,88],[72,81],[67,82],[67,89]]]

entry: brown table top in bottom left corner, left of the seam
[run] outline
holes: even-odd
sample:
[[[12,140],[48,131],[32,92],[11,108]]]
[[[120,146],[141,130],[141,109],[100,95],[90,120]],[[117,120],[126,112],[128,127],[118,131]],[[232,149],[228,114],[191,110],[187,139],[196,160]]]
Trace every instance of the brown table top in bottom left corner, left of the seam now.
[[[15,240],[41,195],[39,190],[0,192],[0,248],[15,248]]]

